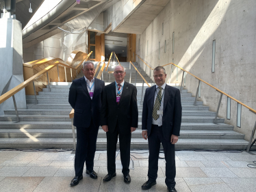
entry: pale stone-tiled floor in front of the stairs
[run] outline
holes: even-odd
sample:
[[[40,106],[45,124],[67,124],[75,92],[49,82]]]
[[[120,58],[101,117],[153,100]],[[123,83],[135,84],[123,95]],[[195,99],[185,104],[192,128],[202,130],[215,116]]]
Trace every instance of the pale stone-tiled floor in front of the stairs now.
[[[123,175],[117,169],[117,176],[103,183],[107,174],[106,152],[97,151],[94,171],[98,179],[84,174],[76,187],[70,187],[75,175],[74,157],[66,152],[21,152],[0,150],[0,191],[142,191],[146,181],[149,156],[147,150],[132,151],[135,156],[131,169],[131,184],[123,182]],[[163,156],[163,154],[160,154]],[[118,156],[117,159],[120,159]],[[176,189],[183,191],[256,191],[256,169],[247,164],[256,161],[256,152],[176,152]],[[255,166],[256,167],[256,166]],[[167,191],[164,183],[165,163],[159,159],[157,184],[149,191]]]

